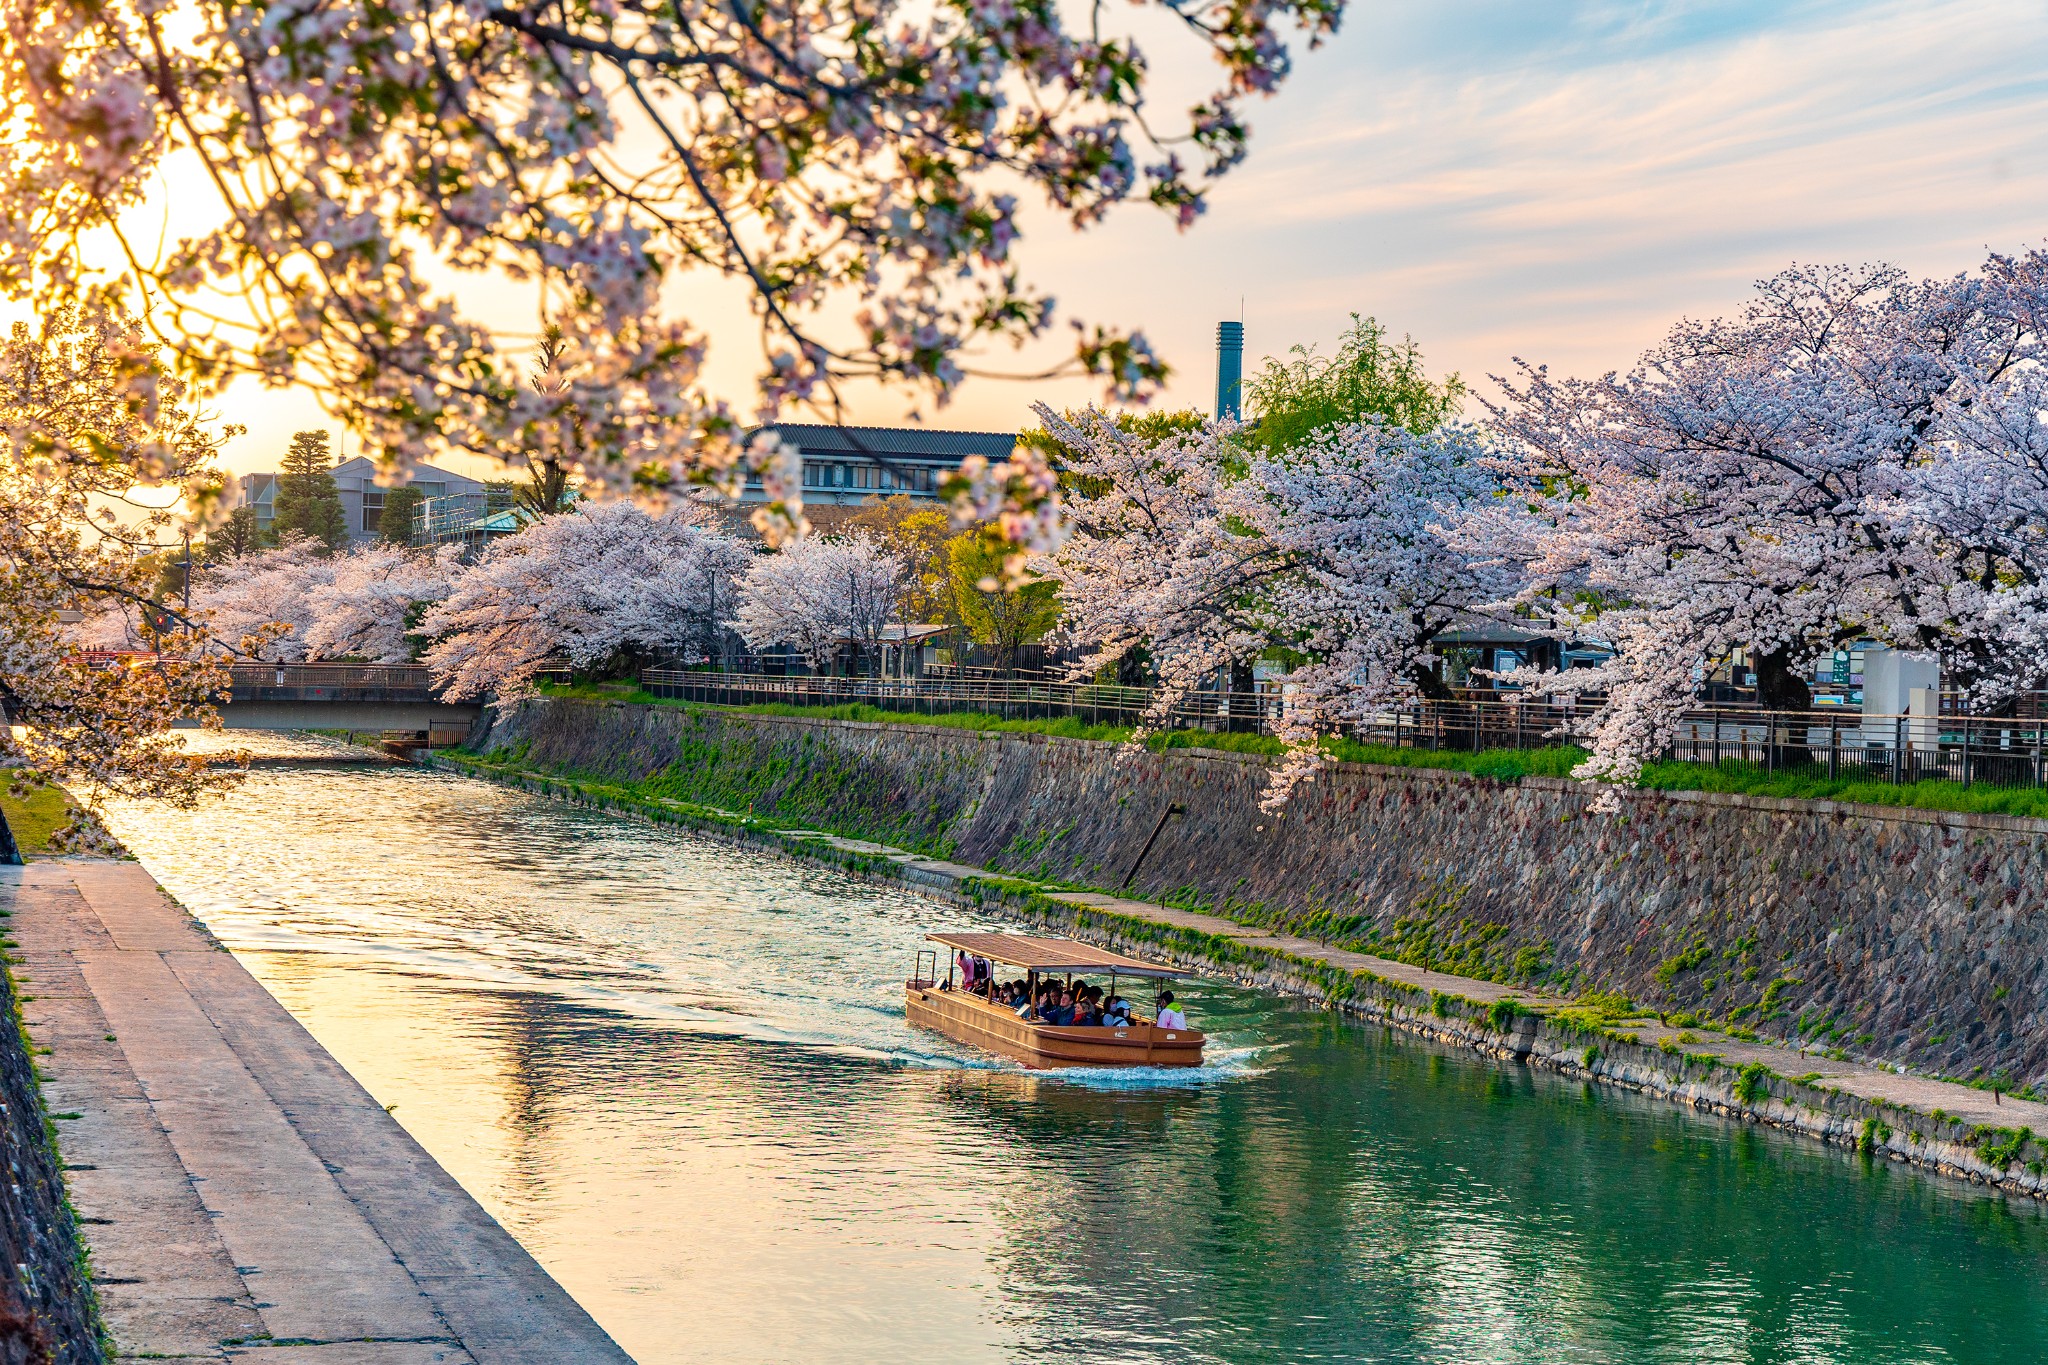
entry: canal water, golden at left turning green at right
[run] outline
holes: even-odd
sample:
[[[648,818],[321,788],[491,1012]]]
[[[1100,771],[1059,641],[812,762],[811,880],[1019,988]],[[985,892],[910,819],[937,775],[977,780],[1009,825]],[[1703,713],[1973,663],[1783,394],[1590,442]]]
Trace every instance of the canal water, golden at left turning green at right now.
[[[113,825],[639,1361],[2048,1340],[2032,1201],[1214,982],[1200,1072],[1028,1074],[903,1023],[963,913],[838,872],[399,767]]]

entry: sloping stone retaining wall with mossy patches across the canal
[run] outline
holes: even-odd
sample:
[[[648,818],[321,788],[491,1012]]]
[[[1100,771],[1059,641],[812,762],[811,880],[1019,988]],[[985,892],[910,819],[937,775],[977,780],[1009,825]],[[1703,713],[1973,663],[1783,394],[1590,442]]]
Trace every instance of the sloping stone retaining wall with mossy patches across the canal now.
[[[1597,817],[1571,782],[1354,763],[1274,817],[1249,755],[563,700],[477,743],[1020,876],[1116,890],[1137,866],[1133,894],[1341,948],[2048,1089],[2042,821],[1692,792]]]

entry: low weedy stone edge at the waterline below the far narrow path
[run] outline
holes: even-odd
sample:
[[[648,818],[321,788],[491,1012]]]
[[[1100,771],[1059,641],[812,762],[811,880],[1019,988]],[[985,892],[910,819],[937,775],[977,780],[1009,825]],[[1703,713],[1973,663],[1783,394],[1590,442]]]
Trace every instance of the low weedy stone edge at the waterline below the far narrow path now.
[[[1303,997],[1483,1056],[1800,1132],[1831,1146],[1978,1185],[2048,1197],[2048,1146],[2030,1130],[1970,1126],[1939,1109],[1919,1111],[1864,1099],[1812,1076],[1778,1074],[1759,1062],[1739,1064],[1710,1052],[1649,1044],[1628,1025],[1651,1011],[1612,995],[1593,995],[1563,1009],[1516,999],[1475,999],[1460,995],[1460,986],[1479,982],[1446,976],[1444,986],[1415,986],[1372,970],[1346,970],[1321,958],[1085,905],[1067,898],[1063,886],[999,874],[954,878],[897,857],[846,849],[819,833],[778,831],[782,821],[680,798],[647,798],[616,782],[537,774],[449,753],[422,755],[420,761],[743,847],[803,857],[866,880],[905,886],[934,900],[995,911],[1118,952]]]

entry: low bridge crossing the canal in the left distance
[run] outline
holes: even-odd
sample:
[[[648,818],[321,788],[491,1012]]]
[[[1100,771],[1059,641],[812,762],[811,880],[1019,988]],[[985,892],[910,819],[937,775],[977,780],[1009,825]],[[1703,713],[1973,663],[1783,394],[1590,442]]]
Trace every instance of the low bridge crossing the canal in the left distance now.
[[[221,724],[238,731],[469,731],[483,710],[444,702],[418,663],[238,663]]]

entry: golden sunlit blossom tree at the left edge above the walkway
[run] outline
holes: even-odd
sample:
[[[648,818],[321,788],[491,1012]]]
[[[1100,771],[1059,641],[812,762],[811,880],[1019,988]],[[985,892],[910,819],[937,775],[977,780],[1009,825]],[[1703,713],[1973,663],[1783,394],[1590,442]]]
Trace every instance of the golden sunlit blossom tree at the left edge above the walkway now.
[[[233,780],[170,733],[219,726],[225,675],[178,604],[156,602],[147,559],[172,526],[172,493],[199,514],[219,505],[213,458],[231,434],[201,422],[186,383],[119,313],[57,307],[0,342],[0,761],[86,798],[72,843],[98,837],[102,794],[190,804]],[[125,639],[143,610],[154,653],[133,667],[84,655],[59,624],[82,612],[104,639],[119,618]]]

